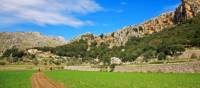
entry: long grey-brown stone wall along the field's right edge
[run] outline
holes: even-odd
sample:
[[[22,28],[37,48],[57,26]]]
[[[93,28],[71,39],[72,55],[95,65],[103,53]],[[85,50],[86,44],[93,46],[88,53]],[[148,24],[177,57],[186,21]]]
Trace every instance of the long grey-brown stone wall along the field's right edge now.
[[[114,72],[200,73],[200,61],[179,64],[116,66]]]

